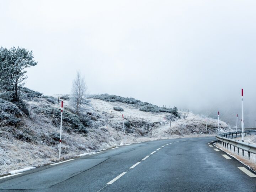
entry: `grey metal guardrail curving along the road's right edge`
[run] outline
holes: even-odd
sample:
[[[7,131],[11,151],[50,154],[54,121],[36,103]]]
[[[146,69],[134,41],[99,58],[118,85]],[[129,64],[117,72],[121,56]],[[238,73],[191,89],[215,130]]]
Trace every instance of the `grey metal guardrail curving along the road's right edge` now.
[[[246,135],[256,135],[256,130],[245,130],[244,131],[245,136]],[[250,153],[256,154],[256,145],[255,144],[251,144],[251,143],[245,143],[242,142],[241,140],[235,140],[233,138],[236,137],[241,137],[242,135],[242,131],[238,131],[238,132],[229,132],[229,133],[222,133],[220,134],[220,136],[216,135],[216,139],[218,140],[218,143],[221,145],[226,145],[229,149],[229,145],[230,145],[230,150],[231,150],[231,146],[234,146],[234,152],[235,152],[235,148],[238,149],[238,154],[239,154],[239,149],[242,149],[242,155],[244,156],[244,151],[248,152],[248,157],[250,159]]]

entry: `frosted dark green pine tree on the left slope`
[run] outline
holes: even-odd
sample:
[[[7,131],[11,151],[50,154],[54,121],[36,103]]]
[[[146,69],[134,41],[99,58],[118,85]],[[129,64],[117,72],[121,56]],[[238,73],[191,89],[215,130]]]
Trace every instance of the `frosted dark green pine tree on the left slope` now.
[[[0,48],[0,91],[12,102],[20,101],[20,88],[27,79],[26,68],[35,66],[33,52],[24,48]]]

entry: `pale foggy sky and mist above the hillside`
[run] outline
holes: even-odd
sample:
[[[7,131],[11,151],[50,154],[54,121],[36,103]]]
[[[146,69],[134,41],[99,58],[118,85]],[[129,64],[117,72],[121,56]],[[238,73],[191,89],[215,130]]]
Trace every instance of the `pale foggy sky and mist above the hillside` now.
[[[33,50],[26,85],[187,108],[245,128],[256,120],[256,1],[1,0],[1,46]],[[239,121],[240,122],[240,121]],[[240,126],[240,124],[239,124]]]

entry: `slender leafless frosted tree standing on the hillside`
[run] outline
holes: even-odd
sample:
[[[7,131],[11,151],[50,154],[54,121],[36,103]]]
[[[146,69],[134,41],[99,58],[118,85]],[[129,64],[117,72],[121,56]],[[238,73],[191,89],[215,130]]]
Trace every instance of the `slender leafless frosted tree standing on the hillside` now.
[[[86,92],[87,86],[84,77],[77,72],[71,90],[71,106],[73,107],[75,114],[79,115],[85,109]]]

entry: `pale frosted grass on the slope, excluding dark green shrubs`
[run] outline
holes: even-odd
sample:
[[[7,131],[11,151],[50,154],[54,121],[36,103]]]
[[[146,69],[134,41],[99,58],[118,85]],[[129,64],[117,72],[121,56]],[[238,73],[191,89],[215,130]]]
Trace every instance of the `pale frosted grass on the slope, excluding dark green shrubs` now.
[[[59,110],[57,104],[51,104],[44,98],[27,103],[31,109],[45,104]],[[114,111],[114,106],[122,107],[124,111]],[[66,100],[64,107],[70,107]],[[30,112],[31,117],[22,117],[19,127],[0,127],[0,174],[58,160],[58,140],[52,139],[59,134],[59,126],[54,126],[49,117],[33,113],[33,110]],[[205,119],[193,113],[189,113],[186,119],[177,119],[171,113],[144,112],[125,103],[96,99],[90,100],[86,112],[92,119],[92,126],[86,128],[87,134],[63,129],[62,160],[146,140],[206,136]],[[126,126],[126,142],[122,114],[130,123]],[[171,128],[167,119],[172,121]],[[208,123],[209,133],[217,133],[217,120],[209,119]],[[221,126],[223,129],[228,127],[224,122]]]

